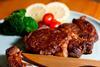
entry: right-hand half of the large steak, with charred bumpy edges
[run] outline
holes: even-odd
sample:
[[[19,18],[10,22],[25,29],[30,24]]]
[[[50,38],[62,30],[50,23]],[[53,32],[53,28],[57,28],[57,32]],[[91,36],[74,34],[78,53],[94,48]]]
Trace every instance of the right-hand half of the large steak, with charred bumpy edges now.
[[[86,17],[82,16],[80,19],[73,19],[73,23],[65,23],[57,28],[69,36],[68,56],[70,57],[92,53],[93,44],[98,40],[95,27],[85,19]]]

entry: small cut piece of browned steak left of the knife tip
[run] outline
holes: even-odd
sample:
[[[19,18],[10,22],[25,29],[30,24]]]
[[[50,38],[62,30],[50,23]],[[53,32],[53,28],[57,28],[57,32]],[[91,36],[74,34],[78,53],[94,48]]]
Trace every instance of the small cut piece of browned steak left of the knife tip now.
[[[22,52],[16,46],[6,50],[8,67],[26,67],[22,62]]]

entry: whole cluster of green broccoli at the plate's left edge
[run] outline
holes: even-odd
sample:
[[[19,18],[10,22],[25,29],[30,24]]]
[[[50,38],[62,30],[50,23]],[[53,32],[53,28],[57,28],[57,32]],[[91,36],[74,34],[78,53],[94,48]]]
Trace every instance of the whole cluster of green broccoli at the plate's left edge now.
[[[38,29],[37,22],[31,17],[25,17],[26,10],[14,11],[0,24],[1,33],[5,35],[25,35]]]

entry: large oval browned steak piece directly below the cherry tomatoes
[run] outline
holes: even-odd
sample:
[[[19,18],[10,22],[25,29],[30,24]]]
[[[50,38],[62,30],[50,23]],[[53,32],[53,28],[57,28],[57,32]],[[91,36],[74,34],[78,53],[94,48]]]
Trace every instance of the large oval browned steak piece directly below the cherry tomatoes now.
[[[41,29],[26,36],[25,43],[33,53],[67,57],[67,36],[60,30]]]

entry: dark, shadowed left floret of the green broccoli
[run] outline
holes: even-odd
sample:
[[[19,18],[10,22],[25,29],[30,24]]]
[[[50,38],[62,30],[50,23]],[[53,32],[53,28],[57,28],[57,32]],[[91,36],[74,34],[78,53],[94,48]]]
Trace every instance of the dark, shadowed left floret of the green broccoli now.
[[[2,23],[2,33],[6,35],[21,35],[25,28],[23,18],[17,14],[5,18],[4,23]]]

